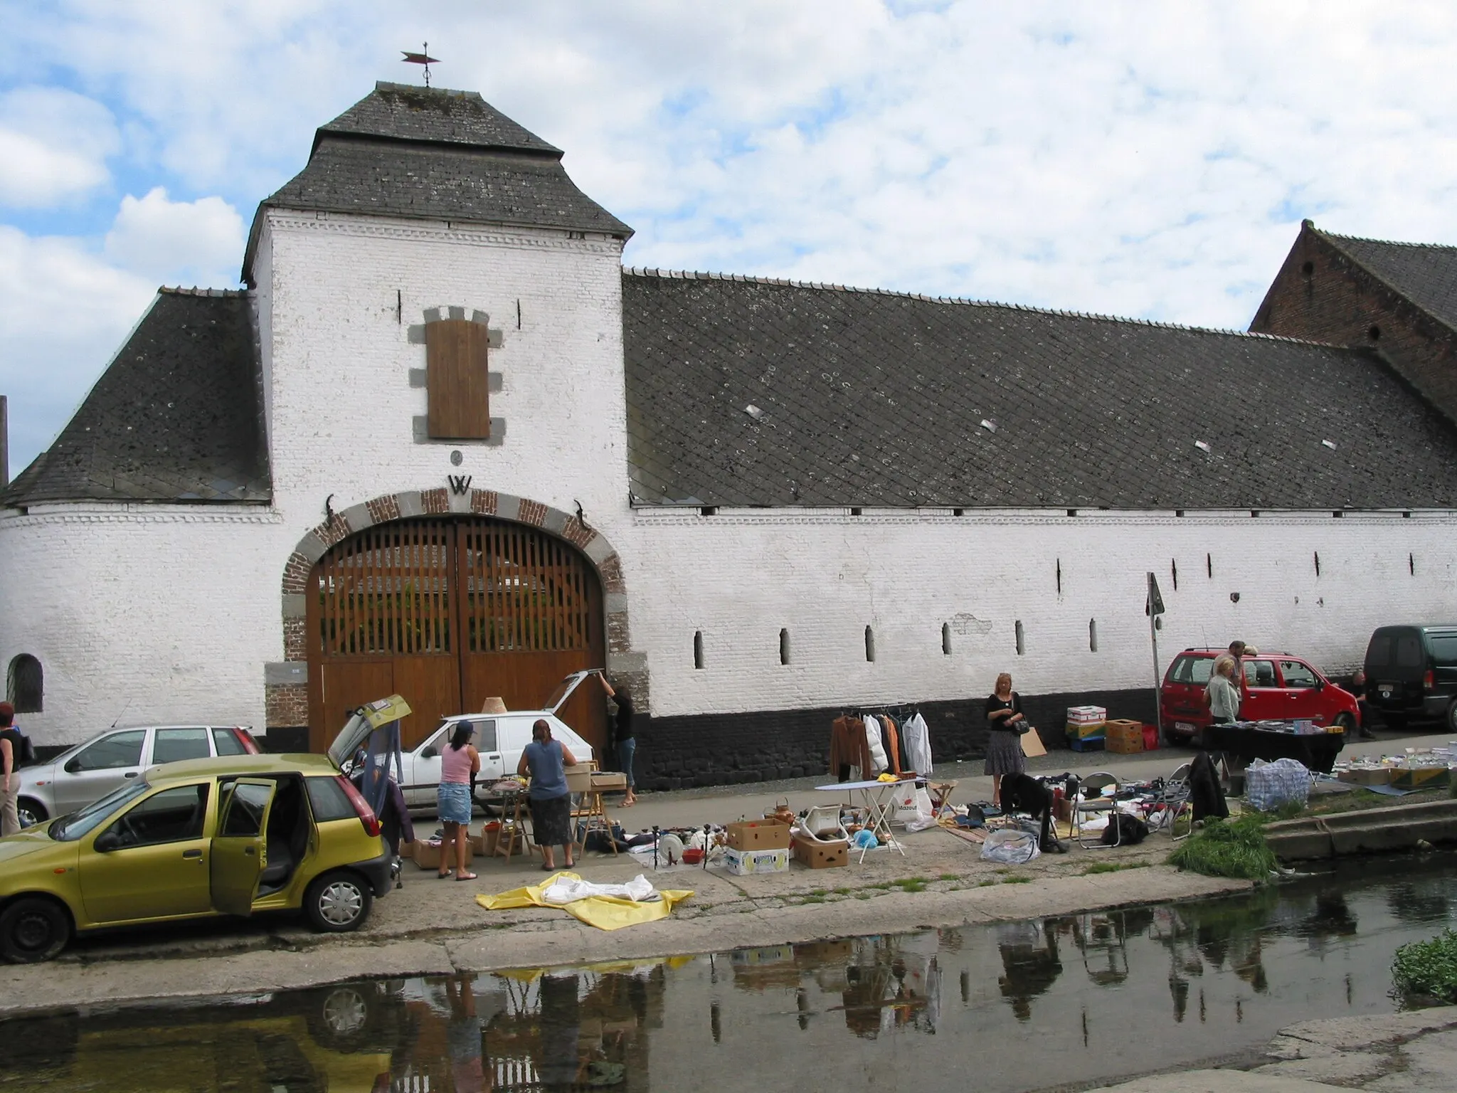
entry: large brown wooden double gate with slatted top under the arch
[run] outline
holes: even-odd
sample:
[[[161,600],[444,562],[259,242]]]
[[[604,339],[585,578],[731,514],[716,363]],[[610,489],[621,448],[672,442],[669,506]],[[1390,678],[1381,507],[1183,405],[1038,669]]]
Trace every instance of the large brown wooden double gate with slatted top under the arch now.
[[[562,676],[605,663],[596,570],[529,525],[449,516],[376,525],[329,549],[307,589],[316,752],[360,702],[404,695],[412,746],[441,717],[475,713],[492,695],[510,710],[539,708]],[[578,688],[561,717],[593,748],[606,745],[600,688]]]

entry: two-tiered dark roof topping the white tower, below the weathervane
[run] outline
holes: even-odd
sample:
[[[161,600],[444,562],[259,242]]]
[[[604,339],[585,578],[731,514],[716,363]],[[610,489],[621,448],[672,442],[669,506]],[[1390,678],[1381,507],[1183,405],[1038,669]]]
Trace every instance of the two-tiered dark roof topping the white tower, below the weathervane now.
[[[252,283],[265,208],[631,236],[567,176],[561,156],[475,92],[377,83],[318,130],[305,169],[258,205],[243,280]]]

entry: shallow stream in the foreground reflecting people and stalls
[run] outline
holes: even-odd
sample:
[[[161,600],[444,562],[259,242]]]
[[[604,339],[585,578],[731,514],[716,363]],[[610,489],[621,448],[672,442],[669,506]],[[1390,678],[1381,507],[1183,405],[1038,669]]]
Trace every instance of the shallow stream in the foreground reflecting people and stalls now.
[[[1454,909],[1457,860],[1412,858],[1177,906],[10,1020],[0,1093],[1018,1093],[1390,1013],[1393,952]]]

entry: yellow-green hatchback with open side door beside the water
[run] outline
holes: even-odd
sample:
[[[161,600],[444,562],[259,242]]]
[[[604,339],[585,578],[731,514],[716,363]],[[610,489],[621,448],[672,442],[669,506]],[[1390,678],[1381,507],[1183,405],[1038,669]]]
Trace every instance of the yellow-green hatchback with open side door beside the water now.
[[[0,957],[50,960],[73,933],[302,909],[344,933],[396,863],[323,755],[153,767],[101,800],[0,838]]]

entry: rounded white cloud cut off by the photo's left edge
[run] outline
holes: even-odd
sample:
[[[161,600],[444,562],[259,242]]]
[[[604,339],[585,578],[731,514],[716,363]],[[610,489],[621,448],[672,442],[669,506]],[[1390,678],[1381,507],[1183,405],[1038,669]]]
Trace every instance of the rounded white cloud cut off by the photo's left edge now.
[[[103,105],[60,87],[0,95],[0,204],[48,208],[106,182],[119,147]]]

